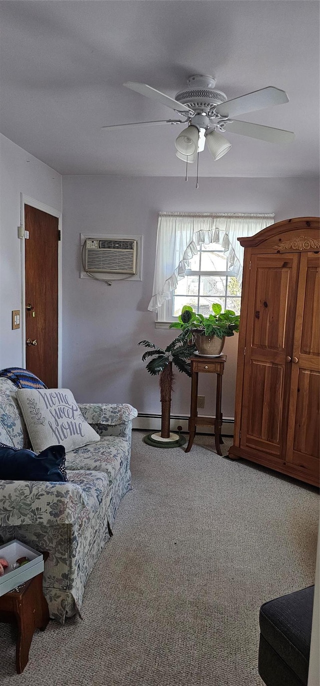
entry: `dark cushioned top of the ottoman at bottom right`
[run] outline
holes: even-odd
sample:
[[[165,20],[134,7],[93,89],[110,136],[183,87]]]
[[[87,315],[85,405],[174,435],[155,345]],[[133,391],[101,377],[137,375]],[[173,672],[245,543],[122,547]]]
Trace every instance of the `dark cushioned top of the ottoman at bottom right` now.
[[[310,586],[260,608],[262,636],[303,684],[308,681],[314,591]]]

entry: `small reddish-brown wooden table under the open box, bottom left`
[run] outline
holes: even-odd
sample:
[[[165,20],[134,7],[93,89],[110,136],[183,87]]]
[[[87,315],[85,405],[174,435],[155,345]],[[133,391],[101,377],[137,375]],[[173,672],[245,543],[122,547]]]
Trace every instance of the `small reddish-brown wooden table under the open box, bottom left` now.
[[[49,553],[43,553],[44,560],[48,557]],[[21,674],[29,660],[34,631],[44,631],[49,622],[49,609],[43,595],[43,572],[17,589],[1,595],[0,622],[12,622],[12,615],[15,615],[18,624],[16,671]]]

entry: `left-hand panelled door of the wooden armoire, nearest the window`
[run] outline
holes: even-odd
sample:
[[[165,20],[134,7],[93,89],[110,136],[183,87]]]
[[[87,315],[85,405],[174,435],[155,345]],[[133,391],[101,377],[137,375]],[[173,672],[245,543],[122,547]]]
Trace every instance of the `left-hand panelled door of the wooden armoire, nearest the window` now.
[[[253,255],[240,445],[285,459],[299,255]]]

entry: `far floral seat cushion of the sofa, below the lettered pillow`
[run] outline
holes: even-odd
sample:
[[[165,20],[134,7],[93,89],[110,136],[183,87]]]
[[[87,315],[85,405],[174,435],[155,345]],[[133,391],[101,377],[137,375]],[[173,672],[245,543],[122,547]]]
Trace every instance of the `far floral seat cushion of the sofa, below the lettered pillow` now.
[[[70,451],[66,456],[66,468],[90,469],[108,475],[109,486],[123,464],[128,462],[128,441],[120,436],[103,436],[100,443]]]

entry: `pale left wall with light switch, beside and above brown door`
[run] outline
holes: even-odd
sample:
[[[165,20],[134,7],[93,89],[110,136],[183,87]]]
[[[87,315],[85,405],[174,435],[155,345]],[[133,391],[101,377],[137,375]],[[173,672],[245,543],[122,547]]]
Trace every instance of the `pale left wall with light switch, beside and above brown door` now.
[[[21,366],[21,329],[12,331],[12,309],[21,309],[20,193],[61,211],[61,176],[0,134],[0,368]]]

